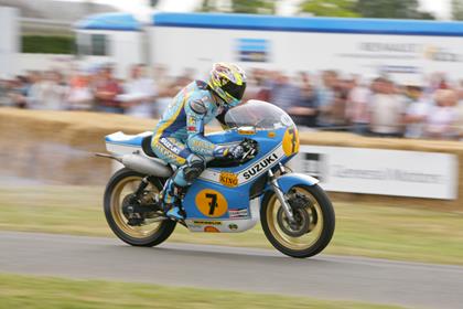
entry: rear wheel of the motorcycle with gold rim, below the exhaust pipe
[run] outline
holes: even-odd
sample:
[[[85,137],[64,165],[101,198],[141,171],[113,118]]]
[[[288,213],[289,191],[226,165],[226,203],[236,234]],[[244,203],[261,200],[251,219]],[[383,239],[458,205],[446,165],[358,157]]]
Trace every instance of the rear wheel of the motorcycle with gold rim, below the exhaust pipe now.
[[[132,246],[152,247],[161,244],[172,234],[175,222],[171,220],[129,225],[122,204],[128,195],[137,191],[143,174],[129,169],[117,171],[109,180],[104,198],[104,210],[109,227],[121,241]],[[162,184],[151,183],[146,188],[143,199],[153,199],[162,190]],[[147,220],[148,221],[148,220]]]

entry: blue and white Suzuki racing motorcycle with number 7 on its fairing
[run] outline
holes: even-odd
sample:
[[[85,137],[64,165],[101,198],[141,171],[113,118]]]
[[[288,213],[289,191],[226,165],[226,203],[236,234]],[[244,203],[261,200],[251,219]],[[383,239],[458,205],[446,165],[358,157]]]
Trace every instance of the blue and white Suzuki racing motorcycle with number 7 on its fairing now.
[[[230,109],[225,122],[229,129],[207,138],[218,145],[241,141],[244,158],[209,160],[182,199],[186,216],[180,222],[169,219],[159,202],[175,167],[153,153],[152,132],[108,135],[110,154],[97,154],[125,166],[105,191],[112,232],[130,245],[155,246],[177,223],[191,232],[239,233],[260,219],[268,241],[281,253],[303,258],[322,252],[334,233],[334,210],[316,179],[286,167],[299,151],[291,117],[272,104],[249,100]],[[258,207],[251,207],[256,202]]]

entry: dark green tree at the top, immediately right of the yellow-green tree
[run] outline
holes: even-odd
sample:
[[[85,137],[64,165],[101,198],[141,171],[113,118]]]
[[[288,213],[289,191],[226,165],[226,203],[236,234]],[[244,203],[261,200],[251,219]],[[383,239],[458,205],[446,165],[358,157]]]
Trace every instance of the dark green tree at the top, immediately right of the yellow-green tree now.
[[[435,19],[432,13],[419,10],[418,0],[358,0],[355,10],[364,18]]]

